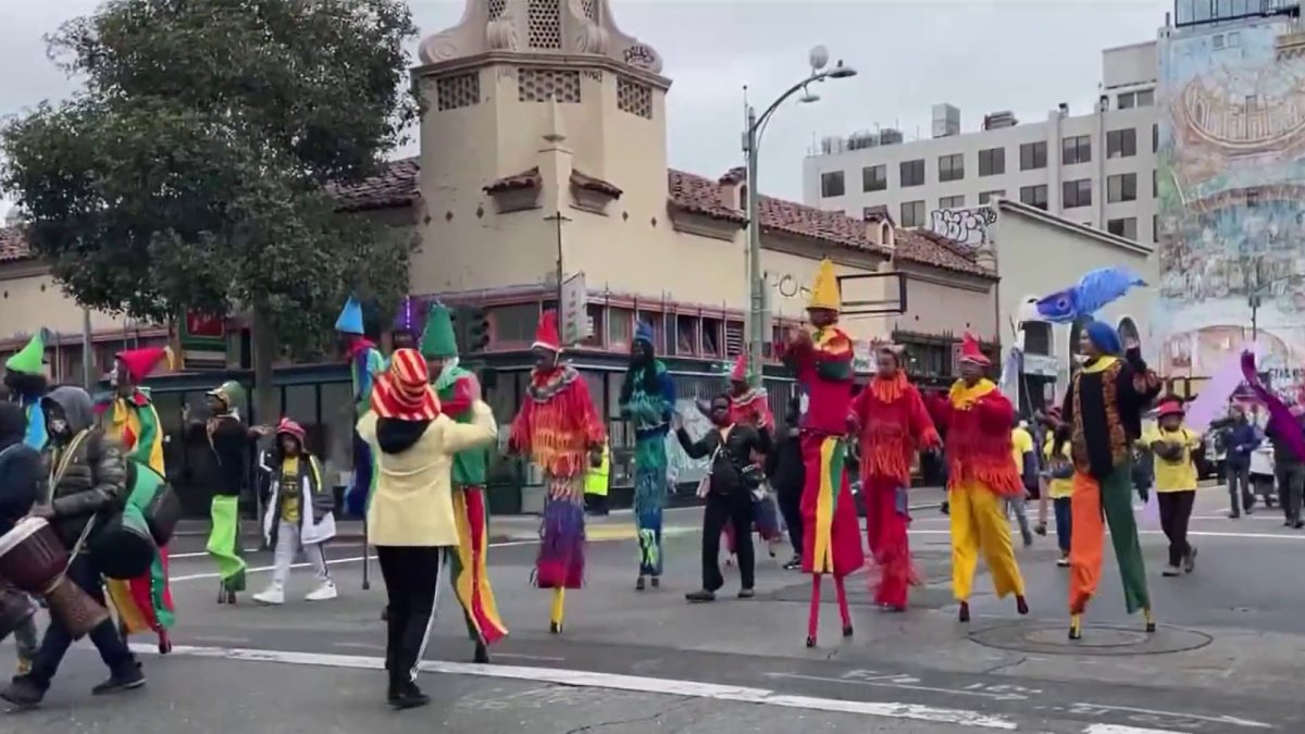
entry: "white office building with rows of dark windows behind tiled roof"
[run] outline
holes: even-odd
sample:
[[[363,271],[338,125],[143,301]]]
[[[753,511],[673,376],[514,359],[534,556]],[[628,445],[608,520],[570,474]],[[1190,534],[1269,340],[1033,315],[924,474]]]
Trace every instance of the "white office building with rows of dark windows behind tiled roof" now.
[[[1156,43],[1104,51],[1101,80],[1090,111],[1060,104],[1023,124],[993,112],[981,131],[963,133],[959,111],[937,104],[927,140],[904,141],[897,129],[825,138],[804,162],[805,201],[850,215],[887,212],[911,227],[1000,196],[1156,242]]]

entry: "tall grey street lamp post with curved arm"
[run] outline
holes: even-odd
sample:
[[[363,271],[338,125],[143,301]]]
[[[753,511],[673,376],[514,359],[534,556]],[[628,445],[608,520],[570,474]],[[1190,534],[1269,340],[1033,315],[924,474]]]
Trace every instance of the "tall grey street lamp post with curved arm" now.
[[[822,46],[817,46],[810,52],[812,73],[803,81],[791,86],[787,91],[779,95],[770,107],[766,108],[760,116],[757,110],[748,106],[748,123],[746,129],[743,135],[743,150],[748,155],[748,188],[746,188],[746,215],[748,215],[748,286],[749,286],[749,311],[748,311],[748,324],[746,324],[746,342],[748,342],[748,379],[753,385],[761,385],[762,383],[762,368],[761,368],[761,345],[765,341],[766,324],[766,283],[763,282],[761,273],[761,218],[758,215],[761,193],[758,192],[760,183],[757,180],[757,161],[760,157],[758,142],[761,140],[761,133],[770,120],[770,116],[775,114],[775,110],[780,104],[788,101],[790,97],[803,93],[803,102],[816,102],[820,97],[810,93],[808,89],[813,82],[822,82],[827,78],[848,78],[856,76],[856,69],[843,65],[843,61],[838,61],[833,69],[826,69],[829,64],[829,52]]]

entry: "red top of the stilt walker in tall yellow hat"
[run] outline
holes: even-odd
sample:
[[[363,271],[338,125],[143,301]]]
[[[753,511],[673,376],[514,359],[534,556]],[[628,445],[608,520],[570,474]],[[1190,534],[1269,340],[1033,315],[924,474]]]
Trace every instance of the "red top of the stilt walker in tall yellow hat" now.
[[[825,327],[810,341],[786,345],[780,357],[806,392],[801,428],[826,436],[847,432],[852,404],[852,340],[838,327]]]

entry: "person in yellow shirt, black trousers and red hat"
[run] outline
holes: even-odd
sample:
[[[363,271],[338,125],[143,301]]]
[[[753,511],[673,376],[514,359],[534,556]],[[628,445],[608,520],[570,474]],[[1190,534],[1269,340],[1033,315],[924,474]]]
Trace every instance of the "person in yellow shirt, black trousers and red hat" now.
[[[1197,502],[1197,464],[1191,452],[1201,445],[1201,435],[1182,424],[1184,413],[1180,398],[1163,398],[1155,415],[1156,426],[1142,436],[1142,444],[1155,455],[1160,528],[1169,538],[1169,566],[1161,572],[1164,576],[1191,573],[1197,564],[1197,549],[1188,543],[1188,522]],[[1231,447],[1228,456],[1232,457]]]

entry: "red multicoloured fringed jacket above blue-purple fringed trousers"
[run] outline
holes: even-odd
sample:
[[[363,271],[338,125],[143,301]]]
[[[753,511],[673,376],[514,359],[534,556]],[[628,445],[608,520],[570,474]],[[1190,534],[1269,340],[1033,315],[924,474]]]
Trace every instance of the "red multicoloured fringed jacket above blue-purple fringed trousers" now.
[[[530,374],[526,400],[512,422],[509,445],[553,477],[579,477],[589,452],[607,440],[589,387],[570,364]]]

